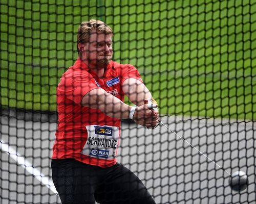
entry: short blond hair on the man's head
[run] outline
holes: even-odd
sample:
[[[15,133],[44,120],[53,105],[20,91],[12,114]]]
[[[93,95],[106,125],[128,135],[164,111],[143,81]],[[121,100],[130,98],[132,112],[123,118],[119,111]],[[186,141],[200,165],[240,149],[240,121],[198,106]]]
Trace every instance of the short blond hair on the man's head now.
[[[104,34],[114,34],[113,30],[109,27],[109,25],[102,22],[101,20],[92,19],[89,21],[83,21],[79,25],[77,31],[77,51],[79,55],[81,54],[81,52],[78,48],[78,44],[89,42],[92,31],[97,31]]]

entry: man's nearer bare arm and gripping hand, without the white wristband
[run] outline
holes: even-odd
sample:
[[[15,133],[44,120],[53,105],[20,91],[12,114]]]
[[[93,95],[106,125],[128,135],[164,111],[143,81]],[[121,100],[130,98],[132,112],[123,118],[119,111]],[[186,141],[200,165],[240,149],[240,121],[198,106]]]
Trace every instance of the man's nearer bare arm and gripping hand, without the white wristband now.
[[[101,88],[93,89],[84,95],[81,100],[81,106],[99,109],[109,117],[122,119],[129,118],[132,108]],[[152,111],[147,108],[147,105],[142,105],[136,109],[135,122],[150,128],[156,126],[158,120]]]

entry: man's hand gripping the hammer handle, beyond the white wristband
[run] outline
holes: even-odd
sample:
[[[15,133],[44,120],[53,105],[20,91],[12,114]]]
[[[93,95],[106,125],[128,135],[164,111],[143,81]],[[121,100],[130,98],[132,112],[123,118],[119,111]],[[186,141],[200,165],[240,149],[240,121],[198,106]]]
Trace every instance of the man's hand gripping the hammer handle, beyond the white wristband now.
[[[154,114],[155,113],[155,114]],[[147,104],[139,106],[136,108],[133,116],[133,120],[142,125],[151,129],[158,124],[158,111],[151,110],[148,108]]]

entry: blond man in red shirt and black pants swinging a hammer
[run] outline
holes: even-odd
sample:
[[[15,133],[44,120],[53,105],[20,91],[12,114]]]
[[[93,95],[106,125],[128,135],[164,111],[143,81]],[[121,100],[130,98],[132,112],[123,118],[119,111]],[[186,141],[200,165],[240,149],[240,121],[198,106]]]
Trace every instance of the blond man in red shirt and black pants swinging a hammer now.
[[[112,36],[112,29],[100,20],[82,22],[79,57],[57,87],[52,177],[65,204],[155,203],[138,177],[115,158],[120,120],[131,118],[153,128],[158,112],[144,104],[152,95],[138,70],[111,61]],[[124,104],[124,95],[137,108]]]

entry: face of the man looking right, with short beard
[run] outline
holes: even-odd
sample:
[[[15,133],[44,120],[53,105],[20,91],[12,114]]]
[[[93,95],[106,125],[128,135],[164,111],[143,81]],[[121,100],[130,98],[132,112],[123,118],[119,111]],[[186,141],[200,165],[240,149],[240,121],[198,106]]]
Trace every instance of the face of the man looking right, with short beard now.
[[[85,57],[91,64],[108,65],[112,59],[112,34],[93,32],[85,44]]]

